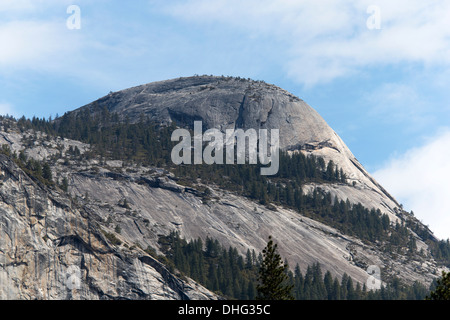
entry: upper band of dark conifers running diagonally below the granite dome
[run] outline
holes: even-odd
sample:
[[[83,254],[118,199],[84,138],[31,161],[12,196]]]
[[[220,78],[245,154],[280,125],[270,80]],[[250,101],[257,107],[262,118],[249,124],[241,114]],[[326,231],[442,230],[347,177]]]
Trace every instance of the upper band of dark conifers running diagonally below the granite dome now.
[[[360,204],[333,199],[330,193],[316,188],[309,195],[303,193],[307,183],[347,183],[346,176],[333,162],[325,163],[322,158],[305,156],[303,153],[280,153],[280,169],[275,176],[260,175],[260,165],[174,165],[171,150],[176,142],[171,141],[172,126],[160,126],[144,116],[136,123],[120,120],[117,114],[104,109],[92,116],[87,109],[78,113],[68,113],[51,119],[18,120],[11,117],[21,131],[33,129],[52,136],[61,136],[89,143],[91,151],[81,154],[71,150],[70,156],[80,160],[90,158],[119,159],[143,166],[163,167],[172,171],[179,183],[195,186],[198,179],[204,184],[217,185],[225,190],[251,198],[276,210],[275,205],[297,210],[302,215],[333,226],[341,232],[354,235],[363,241],[379,243],[386,252],[411,254],[416,250],[415,238],[408,228],[416,232],[429,244],[433,257],[450,266],[449,241],[434,241],[428,230],[420,228],[412,221],[391,225],[389,218],[379,210],[368,209]],[[7,130],[8,121],[2,122]],[[39,163],[27,159],[23,154],[12,155],[2,148],[1,152],[12,156],[30,175],[41,182],[54,186],[46,162]],[[78,151],[78,152],[77,152]],[[43,169],[45,168],[45,170]],[[45,171],[45,173],[44,173]],[[57,184],[67,190],[67,181]],[[207,190],[207,189],[206,189]],[[210,194],[205,192],[204,200]],[[220,289],[220,288],[219,288]],[[226,289],[222,288],[220,290]],[[228,292],[228,291],[227,291]],[[228,294],[228,293],[227,293]]]

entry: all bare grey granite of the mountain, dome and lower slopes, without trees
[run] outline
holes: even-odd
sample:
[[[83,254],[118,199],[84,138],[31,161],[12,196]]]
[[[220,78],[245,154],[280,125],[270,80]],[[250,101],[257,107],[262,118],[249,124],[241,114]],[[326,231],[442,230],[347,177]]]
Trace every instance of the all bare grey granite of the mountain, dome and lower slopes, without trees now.
[[[380,209],[392,223],[413,219],[316,111],[273,85],[180,78],[110,93],[73,112],[105,109],[130,122],[148,116],[183,127],[202,120],[204,129],[279,129],[281,148],[333,160],[348,178],[347,183],[309,183],[304,192],[320,187],[338,199]],[[49,160],[53,176],[68,181],[67,192],[48,188],[0,155],[0,298],[217,298],[142,250],[158,251],[158,237],[171,231],[186,239],[218,239],[243,255],[247,249],[261,251],[272,235],[291,266],[306,270],[319,262],[333,275],[346,273],[362,284],[371,265],[383,269],[386,278],[410,284],[429,284],[439,275],[427,244],[414,233],[415,253],[391,254],[291,209],[273,210],[213,185],[186,187],[161,168],[74,157],[69,149],[75,146],[81,154],[91,149],[80,141],[9,129],[0,132],[0,144]],[[64,159],[54,157],[58,154]],[[200,191],[204,187],[211,190],[207,200]],[[121,205],[124,199],[127,206]]]

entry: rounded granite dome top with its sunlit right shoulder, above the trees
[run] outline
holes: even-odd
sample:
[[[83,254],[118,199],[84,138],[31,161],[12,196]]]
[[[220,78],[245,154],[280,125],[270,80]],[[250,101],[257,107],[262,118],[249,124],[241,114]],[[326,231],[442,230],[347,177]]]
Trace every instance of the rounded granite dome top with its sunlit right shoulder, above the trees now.
[[[379,208],[395,221],[396,200],[364,169],[342,139],[306,102],[291,93],[261,81],[231,77],[198,76],[153,82],[121,90],[74,112],[103,109],[130,122],[149,117],[161,123],[175,122],[203,129],[279,129],[280,148],[333,160],[345,171],[355,188],[331,188],[333,196]],[[343,194],[344,193],[344,194]]]

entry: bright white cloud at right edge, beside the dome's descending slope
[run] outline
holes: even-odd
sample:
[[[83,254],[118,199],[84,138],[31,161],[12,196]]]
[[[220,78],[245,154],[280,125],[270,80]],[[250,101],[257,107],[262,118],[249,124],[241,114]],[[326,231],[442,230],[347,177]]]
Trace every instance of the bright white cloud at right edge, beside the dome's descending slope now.
[[[394,157],[373,175],[437,237],[450,237],[450,128]]]

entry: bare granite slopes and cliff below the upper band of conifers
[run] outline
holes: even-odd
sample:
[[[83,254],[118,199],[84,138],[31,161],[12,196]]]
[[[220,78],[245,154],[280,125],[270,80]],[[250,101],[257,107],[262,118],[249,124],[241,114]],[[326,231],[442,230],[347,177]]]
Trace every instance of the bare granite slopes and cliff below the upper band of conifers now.
[[[75,145],[89,149],[67,139],[49,143],[43,136],[32,148],[25,148],[17,142],[19,137],[4,133],[6,140],[16,141],[12,149],[24,148],[28,156],[37,159]],[[390,255],[375,244],[294,210],[271,210],[213,186],[208,186],[212,193],[205,201],[200,188],[177,184],[173,174],[158,168],[123,167],[121,161],[100,165],[95,159],[58,160],[52,167],[54,176],[68,178],[68,198],[37,185],[8,158],[1,160],[3,297],[214,298],[192,281],[187,283],[170,274],[140,249],[150,246],[158,250],[159,235],[172,231],[186,239],[217,239],[242,255],[247,249],[261,251],[272,235],[290,265],[299,264],[306,270],[318,262],[336,276],[346,273],[363,284],[370,265],[380,266],[386,276],[396,275],[407,283],[429,283],[439,274],[433,259]],[[329,188],[337,188],[344,196],[352,187]],[[127,208],[121,205],[123,199],[127,199]],[[119,241],[111,242],[105,235],[114,235]],[[428,251],[417,239],[417,251],[421,249]],[[77,290],[68,287],[73,273],[81,279]]]

